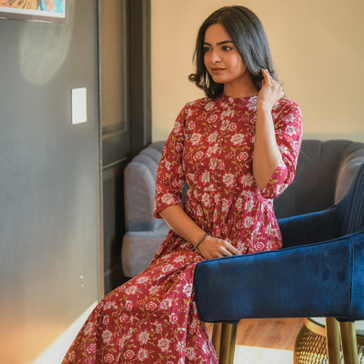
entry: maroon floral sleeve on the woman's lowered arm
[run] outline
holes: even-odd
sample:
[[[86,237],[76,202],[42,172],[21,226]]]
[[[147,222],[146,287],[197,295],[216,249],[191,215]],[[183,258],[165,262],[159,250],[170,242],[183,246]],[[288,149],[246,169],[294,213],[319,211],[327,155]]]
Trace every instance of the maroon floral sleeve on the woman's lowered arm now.
[[[187,106],[177,116],[159,162],[154,202],[154,217],[157,218],[161,218],[159,211],[182,203],[182,188],[186,182],[182,168],[186,115]]]

